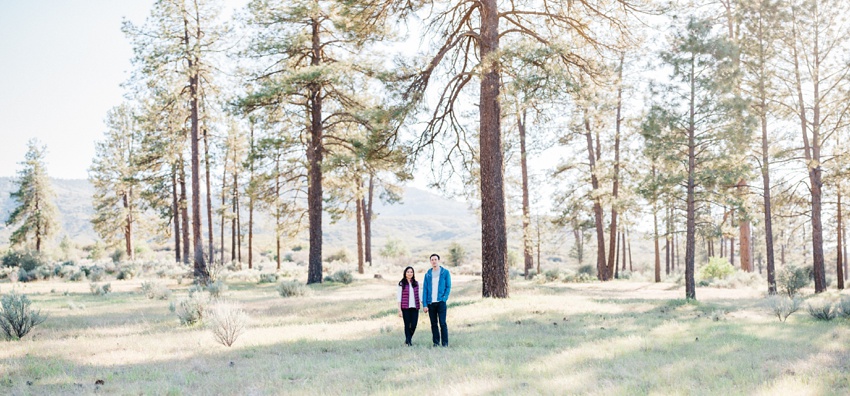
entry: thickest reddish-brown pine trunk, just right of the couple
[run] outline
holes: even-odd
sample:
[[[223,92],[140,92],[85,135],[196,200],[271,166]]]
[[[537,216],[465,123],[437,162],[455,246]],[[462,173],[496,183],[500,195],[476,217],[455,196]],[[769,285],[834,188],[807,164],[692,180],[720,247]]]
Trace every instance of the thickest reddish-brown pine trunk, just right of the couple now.
[[[479,167],[481,172],[481,280],[484,297],[507,298],[508,237],[502,149],[499,10],[496,0],[479,3],[481,86],[479,103]]]

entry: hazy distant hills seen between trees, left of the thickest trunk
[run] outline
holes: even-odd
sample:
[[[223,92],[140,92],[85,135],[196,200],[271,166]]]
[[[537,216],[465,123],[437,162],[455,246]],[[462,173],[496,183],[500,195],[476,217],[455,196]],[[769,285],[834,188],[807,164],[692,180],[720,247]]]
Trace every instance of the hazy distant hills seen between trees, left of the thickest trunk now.
[[[56,205],[59,208],[62,230],[58,237],[68,235],[81,244],[92,243],[97,236],[89,220],[93,214],[91,197],[93,187],[87,180],[53,179]],[[11,230],[5,226],[15,202],[9,197],[13,190],[13,179],[0,177],[0,246],[8,241]],[[408,187],[401,203],[386,205],[375,202],[376,218],[373,221],[373,249],[377,253],[390,238],[402,241],[412,254],[445,249],[453,241],[474,248],[480,245],[480,226],[477,217],[465,203],[446,199],[428,191]],[[244,216],[243,218],[247,218]],[[356,248],[356,228],[351,220],[329,224],[325,215],[323,227],[325,251]],[[259,248],[271,240],[263,219],[258,220],[257,241]],[[218,236],[218,235],[216,235]],[[247,243],[247,241],[246,241]],[[306,244],[306,235],[301,243]]]

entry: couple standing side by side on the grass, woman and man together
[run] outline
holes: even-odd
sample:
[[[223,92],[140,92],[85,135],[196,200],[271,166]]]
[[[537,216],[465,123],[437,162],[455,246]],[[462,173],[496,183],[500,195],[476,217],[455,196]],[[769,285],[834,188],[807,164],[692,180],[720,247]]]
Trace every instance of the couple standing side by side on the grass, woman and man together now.
[[[422,303],[425,313],[431,318],[431,335],[434,346],[449,346],[449,332],[446,326],[446,302],[452,291],[452,274],[440,266],[440,255],[429,258],[431,269],[425,272],[422,282]],[[398,282],[398,316],[404,319],[404,344],[411,346],[416,323],[419,322],[420,308],[419,282],[413,267],[404,269],[404,277]],[[437,326],[439,324],[439,327]]]

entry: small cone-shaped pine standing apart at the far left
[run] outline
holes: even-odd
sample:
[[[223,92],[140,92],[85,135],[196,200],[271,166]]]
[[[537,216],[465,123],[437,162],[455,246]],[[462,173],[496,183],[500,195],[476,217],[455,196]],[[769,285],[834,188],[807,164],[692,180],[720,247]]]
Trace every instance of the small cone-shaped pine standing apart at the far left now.
[[[47,147],[38,140],[27,142],[27,154],[21,162],[23,169],[18,171],[15,180],[17,190],[10,194],[17,206],[6,220],[6,226],[18,227],[9,242],[28,246],[32,243],[37,252],[41,252],[43,244],[56,233],[58,226],[58,212],[53,203],[55,194],[44,164],[46,153]]]

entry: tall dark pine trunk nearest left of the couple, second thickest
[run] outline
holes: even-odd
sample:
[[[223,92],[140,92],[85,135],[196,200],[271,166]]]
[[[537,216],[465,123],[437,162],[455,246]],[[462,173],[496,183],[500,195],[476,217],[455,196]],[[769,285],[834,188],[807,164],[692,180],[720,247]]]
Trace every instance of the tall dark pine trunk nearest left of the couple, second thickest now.
[[[319,21],[312,21],[312,53],[310,64],[321,63]],[[307,212],[310,227],[310,253],[308,258],[307,284],[322,283],[322,89],[318,83],[309,85],[310,91],[310,141],[307,146],[309,162],[307,185]]]

